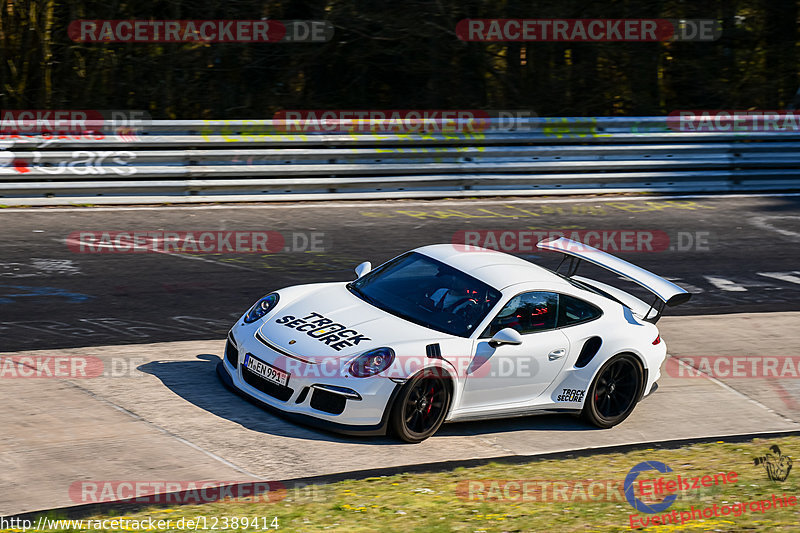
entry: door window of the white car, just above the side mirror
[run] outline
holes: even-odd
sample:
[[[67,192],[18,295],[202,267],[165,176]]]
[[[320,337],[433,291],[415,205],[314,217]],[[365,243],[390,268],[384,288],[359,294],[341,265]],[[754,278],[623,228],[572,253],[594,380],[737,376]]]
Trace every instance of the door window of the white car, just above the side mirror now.
[[[491,337],[504,328],[521,334],[555,329],[558,316],[558,294],[526,292],[514,296],[497,314],[484,337]]]

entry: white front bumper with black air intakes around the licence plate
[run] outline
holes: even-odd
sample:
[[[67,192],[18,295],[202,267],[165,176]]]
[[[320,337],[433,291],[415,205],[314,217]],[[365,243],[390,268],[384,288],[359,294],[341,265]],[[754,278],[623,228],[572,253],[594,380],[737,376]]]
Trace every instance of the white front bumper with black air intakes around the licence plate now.
[[[243,367],[246,354],[289,370],[286,387],[258,378]],[[230,389],[257,405],[300,423],[351,435],[383,435],[401,384],[374,376],[321,376],[320,365],[286,357],[255,337],[255,329],[234,328],[217,374]]]

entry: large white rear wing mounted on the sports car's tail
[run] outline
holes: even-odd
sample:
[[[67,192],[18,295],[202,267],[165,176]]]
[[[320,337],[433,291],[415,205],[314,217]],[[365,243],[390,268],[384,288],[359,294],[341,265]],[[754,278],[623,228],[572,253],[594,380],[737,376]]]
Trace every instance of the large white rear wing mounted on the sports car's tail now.
[[[667,281],[661,276],[653,274],[649,270],[637,267],[634,264],[623,261],[602,250],[567,239],[566,237],[542,241],[536,246],[542,250],[560,252],[564,254],[564,260],[569,257],[570,264],[567,269],[567,276],[574,276],[578,271],[580,262],[586,261],[644,287],[647,291],[656,296],[656,300],[651,307],[656,309],[658,315],[661,314],[665,305],[670,307],[680,305],[686,303],[689,301],[689,298],[692,297],[691,293],[681,289],[671,281]],[[564,260],[561,262],[563,263]]]

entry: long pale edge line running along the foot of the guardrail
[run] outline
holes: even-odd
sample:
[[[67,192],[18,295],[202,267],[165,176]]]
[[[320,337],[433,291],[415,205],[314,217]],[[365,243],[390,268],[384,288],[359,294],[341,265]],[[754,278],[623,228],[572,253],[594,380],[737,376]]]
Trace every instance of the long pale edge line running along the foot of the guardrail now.
[[[31,213],[32,211],[50,212],[103,212],[103,211],[163,211],[165,209],[320,209],[322,207],[357,207],[365,208],[368,206],[431,206],[431,205],[496,205],[496,204],[564,204],[564,203],[591,203],[591,202],[631,202],[638,200],[686,200],[686,199],[714,199],[714,198],[787,198],[800,196],[800,193],[759,193],[759,194],[685,194],[670,196],[603,196],[597,198],[531,198],[531,199],[503,199],[495,200],[427,200],[427,201],[405,201],[405,200],[363,200],[359,203],[346,203],[337,200],[326,201],[306,201],[303,204],[289,204],[286,201],[259,204],[259,205],[238,205],[236,203],[213,204],[213,205],[167,205],[167,206],[120,206],[120,207],[25,207],[25,208],[6,208],[0,209],[2,213]],[[65,199],[67,201],[68,199]],[[269,202],[268,198],[264,202]],[[0,199],[2,203],[2,199]]]

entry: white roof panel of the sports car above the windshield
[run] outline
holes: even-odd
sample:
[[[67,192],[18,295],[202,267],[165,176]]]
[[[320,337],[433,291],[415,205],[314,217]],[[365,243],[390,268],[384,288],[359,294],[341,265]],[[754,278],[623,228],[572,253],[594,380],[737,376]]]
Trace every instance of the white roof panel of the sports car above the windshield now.
[[[546,268],[513,255],[478,246],[431,244],[413,251],[446,263],[500,290],[524,282],[547,282],[555,286],[566,284]]]

